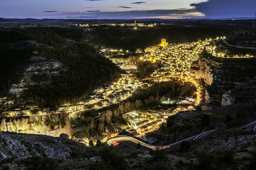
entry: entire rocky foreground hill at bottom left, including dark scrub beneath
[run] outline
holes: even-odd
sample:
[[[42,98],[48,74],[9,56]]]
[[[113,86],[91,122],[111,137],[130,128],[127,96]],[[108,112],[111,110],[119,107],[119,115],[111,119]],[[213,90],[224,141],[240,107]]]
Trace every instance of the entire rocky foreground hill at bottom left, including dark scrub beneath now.
[[[58,161],[95,157],[95,148],[70,140],[65,134],[61,137],[0,132],[0,169],[20,169],[24,164],[30,169],[55,169]]]

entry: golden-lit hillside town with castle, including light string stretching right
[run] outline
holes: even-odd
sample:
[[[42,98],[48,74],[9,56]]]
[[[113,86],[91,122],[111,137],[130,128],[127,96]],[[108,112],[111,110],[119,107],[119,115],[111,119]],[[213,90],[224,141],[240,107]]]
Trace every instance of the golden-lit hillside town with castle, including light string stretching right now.
[[[116,50],[109,48],[102,48],[101,52],[115,64],[117,64],[121,69],[126,71],[125,74],[121,74],[118,80],[106,83],[104,87],[99,87],[93,90],[93,94],[90,99],[81,102],[79,104],[64,104],[60,106],[56,113],[67,112],[71,115],[74,113],[79,113],[80,111],[89,111],[104,108],[110,106],[111,104],[120,103],[120,101],[125,101],[125,99],[132,96],[138,88],[147,88],[152,86],[152,83],[161,81],[172,81],[177,80],[181,82],[191,82],[196,87],[196,98],[191,104],[197,106],[202,100],[202,85],[195,80],[195,74],[191,73],[191,64],[198,60],[200,53],[207,50],[216,57],[227,57],[221,52],[216,52],[216,46],[212,46],[216,39],[206,39],[205,41],[197,41],[193,43],[177,43],[168,44],[166,39],[161,39],[161,43],[157,46],[151,46],[145,49],[145,53],[137,50],[136,53],[143,54],[140,60],[148,60],[153,63],[160,63],[162,67],[154,71],[148,78],[137,79],[134,77],[132,72],[136,72],[137,67],[134,62],[130,63],[129,60],[118,59],[109,57],[109,55],[126,55],[129,51]],[[225,39],[222,38],[221,39]],[[239,58],[253,57],[251,55],[244,56],[232,56]],[[87,108],[86,106],[93,106],[93,108]],[[87,109],[86,109],[87,108]],[[4,117],[19,117],[30,115],[29,110],[13,110],[5,111],[2,113]],[[49,114],[49,110],[39,111],[38,114]],[[54,114],[54,112],[51,112]]]

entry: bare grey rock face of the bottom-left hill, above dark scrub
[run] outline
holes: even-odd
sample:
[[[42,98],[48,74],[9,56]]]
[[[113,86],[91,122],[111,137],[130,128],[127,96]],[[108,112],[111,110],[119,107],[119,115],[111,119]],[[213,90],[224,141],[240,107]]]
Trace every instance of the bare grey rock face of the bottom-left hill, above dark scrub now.
[[[0,132],[0,141],[0,160],[27,157],[70,159],[93,156],[84,144],[67,138]]]

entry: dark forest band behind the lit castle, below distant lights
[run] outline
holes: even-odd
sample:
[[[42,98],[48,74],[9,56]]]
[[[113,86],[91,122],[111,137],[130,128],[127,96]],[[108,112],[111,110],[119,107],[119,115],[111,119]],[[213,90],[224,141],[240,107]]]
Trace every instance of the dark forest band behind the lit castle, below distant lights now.
[[[170,43],[186,43],[225,36],[234,30],[237,30],[234,25],[160,25],[154,28],[139,27],[136,30],[132,27],[97,27],[87,34],[90,34],[88,38],[93,43],[134,52],[138,48],[143,50],[147,46],[158,44],[161,38],[166,38]]]

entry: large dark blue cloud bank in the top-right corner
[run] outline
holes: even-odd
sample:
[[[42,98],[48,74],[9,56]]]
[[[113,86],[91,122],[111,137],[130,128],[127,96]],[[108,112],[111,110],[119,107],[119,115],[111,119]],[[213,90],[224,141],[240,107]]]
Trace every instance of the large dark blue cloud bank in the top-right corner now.
[[[253,17],[256,10],[255,0],[208,0],[202,3],[193,3],[206,18],[241,18]]]

